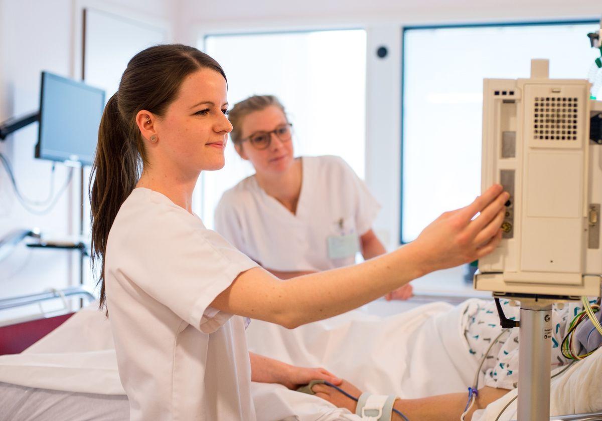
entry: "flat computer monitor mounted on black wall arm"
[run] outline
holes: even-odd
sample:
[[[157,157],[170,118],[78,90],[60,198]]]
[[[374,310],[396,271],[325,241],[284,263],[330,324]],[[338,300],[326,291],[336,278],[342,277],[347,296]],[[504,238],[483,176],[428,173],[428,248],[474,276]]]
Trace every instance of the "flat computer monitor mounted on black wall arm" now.
[[[105,91],[42,72],[36,158],[92,165]]]

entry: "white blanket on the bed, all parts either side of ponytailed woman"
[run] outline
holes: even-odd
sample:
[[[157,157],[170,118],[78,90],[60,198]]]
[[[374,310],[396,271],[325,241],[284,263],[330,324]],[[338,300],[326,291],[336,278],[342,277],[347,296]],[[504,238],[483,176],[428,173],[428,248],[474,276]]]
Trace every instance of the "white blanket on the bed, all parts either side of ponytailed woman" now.
[[[323,366],[374,393],[417,398],[464,392],[476,361],[462,338],[464,305],[432,303],[389,318],[351,312],[287,330],[253,321],[249,349],[300,366]],[[60,352],[63,349],[63,352]],[[123,394],[102,313],[82,310],[18,355],[0,357],[0,382],[66,392]],[[254,383],[258,420],[357,420],[315,396]]]

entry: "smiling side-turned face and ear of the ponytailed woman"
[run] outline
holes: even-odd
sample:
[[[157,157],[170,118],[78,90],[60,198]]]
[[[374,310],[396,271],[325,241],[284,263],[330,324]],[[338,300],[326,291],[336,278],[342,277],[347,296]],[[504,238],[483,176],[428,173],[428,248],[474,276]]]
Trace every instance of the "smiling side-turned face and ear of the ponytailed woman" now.
[[[222,75],[201,69],[186,76],[176,99],[163,117],[155,117],[158,141],[152,161],[173,168],[182,176],[219,170],[232,124],[226,118],[227,86]],[[151,162],[152,164],[152,162]]]

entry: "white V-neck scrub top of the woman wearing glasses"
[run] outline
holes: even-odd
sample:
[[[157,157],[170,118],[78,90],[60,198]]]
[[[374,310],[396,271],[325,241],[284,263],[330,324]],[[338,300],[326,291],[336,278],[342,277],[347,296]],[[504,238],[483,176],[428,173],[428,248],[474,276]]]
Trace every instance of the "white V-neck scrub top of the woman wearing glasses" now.
[[[332,244],[371,229],[380,205],[338,156],[304,156],[296,214],[268,195],[255,176],[226,191],[216,207],[216,231],[238,250],[276,271],[324,271],[355,263]],[[335,257],[333,257],[335,256]]]

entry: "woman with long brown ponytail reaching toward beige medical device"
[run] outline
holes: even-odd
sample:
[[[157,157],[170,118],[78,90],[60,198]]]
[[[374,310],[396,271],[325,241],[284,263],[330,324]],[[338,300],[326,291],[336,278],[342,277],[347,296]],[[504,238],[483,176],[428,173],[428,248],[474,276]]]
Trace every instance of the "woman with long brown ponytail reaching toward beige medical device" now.
[[[357,266],[281,281],[193,214],[200,171],[224,165],[226,77],[195,48],[141,51],[99,129],[92,192],[100,268],[132,420],[254,420],[250,382],[340,381],[247,352],[246,319],[296,327],[490,253],[507,194],[492,186],[418,239]],[[475,218],[476,214],[480,215]]]

